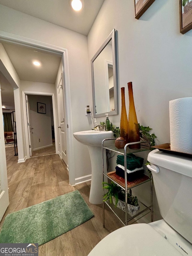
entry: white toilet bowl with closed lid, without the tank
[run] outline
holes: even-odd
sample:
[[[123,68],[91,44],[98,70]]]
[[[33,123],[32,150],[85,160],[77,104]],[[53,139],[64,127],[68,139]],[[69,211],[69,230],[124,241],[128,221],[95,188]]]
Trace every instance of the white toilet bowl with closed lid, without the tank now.
[[[164,220],[131,224],[102,239],[88,256],[181,256],[192,255],[192,245]]]

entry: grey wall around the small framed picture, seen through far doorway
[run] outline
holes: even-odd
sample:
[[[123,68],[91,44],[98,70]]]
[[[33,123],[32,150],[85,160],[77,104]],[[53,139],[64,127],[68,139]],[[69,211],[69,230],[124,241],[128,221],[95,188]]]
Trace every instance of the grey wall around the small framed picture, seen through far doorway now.
[[[51,131],[51,96],[44,95],[28,95],[30,108],[30,124],[32,131],[32,145],[33,150],[52,145],[52,131]],[[37,112],[37,102],[46,104],[46,114]],[[40,142],[38,142],[40,139]]]

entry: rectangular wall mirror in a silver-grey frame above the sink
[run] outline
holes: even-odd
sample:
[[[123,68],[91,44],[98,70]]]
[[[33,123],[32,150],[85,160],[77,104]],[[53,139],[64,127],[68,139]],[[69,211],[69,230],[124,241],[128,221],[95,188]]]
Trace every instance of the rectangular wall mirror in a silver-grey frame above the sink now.
[[[115,29],[91,59],[91,79],[93,116],[118,115]]]

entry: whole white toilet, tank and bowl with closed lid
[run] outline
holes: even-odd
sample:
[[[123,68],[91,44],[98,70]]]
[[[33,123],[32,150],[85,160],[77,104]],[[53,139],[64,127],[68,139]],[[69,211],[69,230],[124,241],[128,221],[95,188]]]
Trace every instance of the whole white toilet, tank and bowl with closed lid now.
[[[155,149],[147,159],[163,219],[119,228],[88,256],[192,255],[192,158]]]

